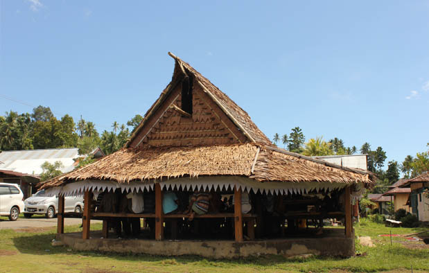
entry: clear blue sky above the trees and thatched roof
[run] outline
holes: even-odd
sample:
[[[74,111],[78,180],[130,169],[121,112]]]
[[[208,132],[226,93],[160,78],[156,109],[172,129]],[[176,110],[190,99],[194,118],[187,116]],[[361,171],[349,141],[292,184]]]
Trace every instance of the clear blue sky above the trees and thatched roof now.
[[[0,112],[111,130],[157,99],[171,51],[270,139],[299,126],[388,161],[426,150],[429,1],[230,2],[0,1]]]

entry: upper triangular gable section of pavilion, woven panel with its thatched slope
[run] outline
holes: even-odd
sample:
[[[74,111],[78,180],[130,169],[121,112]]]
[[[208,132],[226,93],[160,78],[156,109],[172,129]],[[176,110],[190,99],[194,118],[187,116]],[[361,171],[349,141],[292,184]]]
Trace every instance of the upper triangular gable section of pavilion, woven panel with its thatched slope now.
[[[176,57],[175,61],[171,82],[146,112],[145,118],[125,147],[198,146],[246,142],[272,145],[270,139],[253,123],[247,112],[231,98],[186,62]],[[174,111],[169,109],[173,105],[182,108],[180,89],[184,78],[188,76],[193,79],[194,111],[191,119],[195,127],[188,124],[189,126],[184,127],[182,132],[174,131],[176,129],[166,130],[164,126],[167,123],[171,125],[173,121],[177,129],[180,129],[180,125],[189,123],[186,116],[180,116],[179,112],[173,113]],[[207,118],[211,120],[207,121]],[[198,129],[196,123],[200,123],[201,120],[207,124]],[[155,131],[152,130],[154,127]],[[182,141],[179,140],[181,138]]]

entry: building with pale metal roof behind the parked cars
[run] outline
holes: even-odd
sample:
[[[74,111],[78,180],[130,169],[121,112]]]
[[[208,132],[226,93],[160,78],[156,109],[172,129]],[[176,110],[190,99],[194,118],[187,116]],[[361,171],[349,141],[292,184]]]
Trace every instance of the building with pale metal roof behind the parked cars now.
[[[62,173],[68,173],[79,163],[81,157],[78,148],[40,149],[40,150],[13,150],[0,152],[0,182],[15,183],[21,186],[24,198],[35,193],[35,186],[40,181],[42,164],[48,161],[54,164],[60,161]],[[100,148],[94,149],[89,155],[95,158],[104,156]]]

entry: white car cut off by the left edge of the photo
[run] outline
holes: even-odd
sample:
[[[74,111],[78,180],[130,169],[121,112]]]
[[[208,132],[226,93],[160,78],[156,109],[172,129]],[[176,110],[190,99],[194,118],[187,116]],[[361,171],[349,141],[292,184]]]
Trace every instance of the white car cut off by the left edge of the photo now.
[[[24,211],[24,194],[17,184],[0,183],[0,215],[16,221]]]

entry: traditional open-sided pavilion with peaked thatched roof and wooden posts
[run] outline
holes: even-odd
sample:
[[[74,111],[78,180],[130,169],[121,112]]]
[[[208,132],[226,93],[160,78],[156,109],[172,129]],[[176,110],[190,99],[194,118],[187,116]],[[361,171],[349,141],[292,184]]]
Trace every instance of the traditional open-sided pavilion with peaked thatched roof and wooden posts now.
[[[175,60],[173,79],[125,147],[44,184],[51,194],[85,194],[83,240],[72,236],[72,243],[72,237],[62,234],[61,213],[59,238],[79,249],[163,255],[234,257],[263,253],[293,255],[303,251],[353,254],[351,202],[364,187],[374,183],[374,175],[276,148],[226,94],[189,64],[171,53],[170,56]],[[115,190],[144,193],[144,200],[146,194],[155,192],[155,211],[105,213],[92,209],[93,194],[99,197],[100,193]],[[206,191],[222,198],[234,195],[234,205],[231,211],[209,211],[196,215],[190,222],[188,214],[164,214],[163,195],[170,196],[170,191],[177,194]],[[252,209],[243,213],[242,202],[246,198],[242,200],[242,196],[249,196],[248,193],[247,202]],[[117,240],[96,239],[96,234],[87,240],[91,218],[104,220],[100,235],[103,238],[110,236],[108,221],[153,220],[156,240],[131,240],[129,247],[123,243],[119,247]],[[303,220],[317,220],[320,224],[325,218],[344,219],[345,236],[339,229],[319,235],[319,229],[302,228]],[[207,223],[210,224],[204,226],[205,230],[184,236],[189,228],[198,230],[198,224]],[[204,241],[163,241],[164,229],[170,231],[166,233],[170,239],[201,238],[205,234]],[[274,233],[272,229],[277,230]],[[225,231],[224,237],[219,235],[220,230]],[[236,243],[225,240],[229,234],[234,234]],[[286,240],[287,236],[306,239]],[[243,238],[252,242],[243,242]]]

